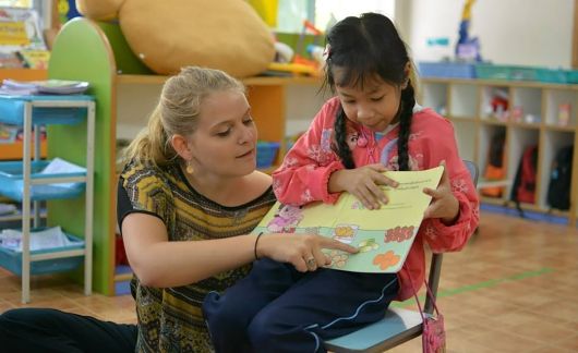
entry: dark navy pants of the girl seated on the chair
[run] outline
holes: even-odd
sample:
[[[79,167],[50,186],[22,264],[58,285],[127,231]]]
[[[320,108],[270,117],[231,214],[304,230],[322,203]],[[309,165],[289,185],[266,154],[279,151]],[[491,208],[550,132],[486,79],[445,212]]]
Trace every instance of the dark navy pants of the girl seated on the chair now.
[[[209,293],[203,313],[217,353],[325,352],[324,340],[382,319],[398,289],[395,273],[301,273],[261,259],[222,295]]]

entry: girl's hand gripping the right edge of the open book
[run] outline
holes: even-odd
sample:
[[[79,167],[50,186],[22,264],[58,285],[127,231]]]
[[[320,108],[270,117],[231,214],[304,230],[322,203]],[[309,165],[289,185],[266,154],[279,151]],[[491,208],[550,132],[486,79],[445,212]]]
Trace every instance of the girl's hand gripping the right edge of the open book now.
[[[459,216],[459,202],[451,193],[451,184],[445,160],[439,166],[444,166],[444,173],[436,190],[424,187],[423,192],[432,196],[432,202],[423,218],[441,218],[444,224],[453,224]]]

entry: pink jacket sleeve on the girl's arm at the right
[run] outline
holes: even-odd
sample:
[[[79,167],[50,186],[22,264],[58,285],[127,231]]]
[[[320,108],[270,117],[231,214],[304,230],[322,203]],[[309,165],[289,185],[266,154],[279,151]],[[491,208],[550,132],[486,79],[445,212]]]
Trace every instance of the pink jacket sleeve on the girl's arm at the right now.
[[[480,200],[469,170],[459,157],[454,130],[443,129],[450,134],[441,138],[445,133],[438,134],[435,148],[432,148],[430,168],[446,161],[449,172],[451,192],[459,202],[459,216],[449,226],[444,224],[438,218],[424,220],[422,227],[424,239],[434,253],[455,252],[461,249],[471,236],[480,220]]]

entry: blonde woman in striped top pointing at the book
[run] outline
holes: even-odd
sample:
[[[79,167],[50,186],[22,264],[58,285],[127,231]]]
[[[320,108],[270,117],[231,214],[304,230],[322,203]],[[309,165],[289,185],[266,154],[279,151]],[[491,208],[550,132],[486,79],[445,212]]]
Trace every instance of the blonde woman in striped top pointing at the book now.
[[[169,78],[148,127],[128,148],[119,180],[137,325],[15,309],[0,316],[2,349],[212,352],[201,303],[208,291],[244,277],[256,257],[306,271],[309,254],[322,247],[356,252],[318,235],[246,235],[275,203],[270,176],[255,171],[256,142],[239,81],[201,68]]]

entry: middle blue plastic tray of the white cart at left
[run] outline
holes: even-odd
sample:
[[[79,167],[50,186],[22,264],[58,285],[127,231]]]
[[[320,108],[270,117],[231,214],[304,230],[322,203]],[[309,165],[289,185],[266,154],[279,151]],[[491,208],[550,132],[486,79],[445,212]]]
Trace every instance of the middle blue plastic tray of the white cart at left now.
[[[86,172],[40,174],[40,171],[50,161],[39,160],[32,162],[32,179],[84,176]],[[71,184],[71,183],[67,183]],[[84,192],[85,183],[72,183],[70,186],[62,184],[33,185],[31,187],[31,200],[72,198]],[[0,162],[0,194],[12,199],[22,202],[24,181],[22,176],[22,161]]]

